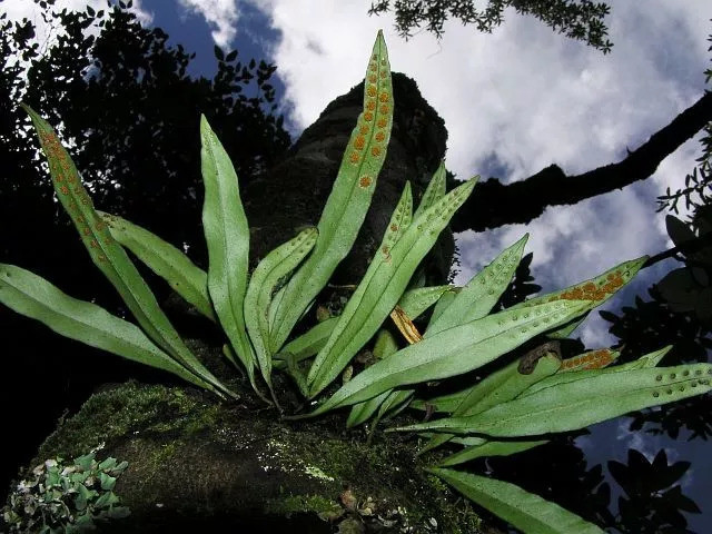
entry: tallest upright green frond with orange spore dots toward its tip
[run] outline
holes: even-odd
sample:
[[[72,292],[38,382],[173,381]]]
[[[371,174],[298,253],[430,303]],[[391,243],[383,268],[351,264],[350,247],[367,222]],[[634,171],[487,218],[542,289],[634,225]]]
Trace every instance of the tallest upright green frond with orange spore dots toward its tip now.
[[[350,250],[370,206],[393,126],[393,87],[388,52],[379,31],[364,82],[364,111],[318,222],[319,238],[310,257],[286,286],[275,317],[273,346],[281,347],[309,303]]]

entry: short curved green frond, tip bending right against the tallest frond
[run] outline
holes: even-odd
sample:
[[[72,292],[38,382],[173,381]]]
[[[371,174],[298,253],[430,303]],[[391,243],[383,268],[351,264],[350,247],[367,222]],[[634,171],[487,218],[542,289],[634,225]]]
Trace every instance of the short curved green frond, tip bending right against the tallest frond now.
[[[307,228],[271,250],[257,266],[245,295],[245,325],[253,340],[263,378],[271,390],[269,348],[269,303],[277,283],[306,257],[317,239],[317,229]]]

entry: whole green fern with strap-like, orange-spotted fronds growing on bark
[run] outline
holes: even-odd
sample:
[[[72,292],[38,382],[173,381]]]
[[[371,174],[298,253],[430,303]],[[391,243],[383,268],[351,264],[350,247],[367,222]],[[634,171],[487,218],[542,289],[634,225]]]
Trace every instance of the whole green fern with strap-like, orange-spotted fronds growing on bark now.
[[[607,367],[617,353],[600,349],[563,359],[551,342],[568,336],[594,307],[626,285],[646,258],[622,263],[591,280],[491,314],[522,258],[524,236],[464,287],[418,287],[414,277],[418,265],[476,182],[473,178],[446,191],[442,164],[415,210],[406,185],[380,246],[342,314],[298,337],[290,336],[352,248],[385,159],[394,100],[380,33],[368,59],[364,92],[363,112],[318,225],[269,253],[251,276],[249,227],[238,178],[205,117],[200,137],[207,273],[148,230],[96,210],[51,127],[26,107],[61,205],[137,325],[65,295],[11,265],[0,265],[0,301],[63,336],[168,370],[221,398],[236,397],[186,347],[128,249],[222,327],[226,357],[246,370],[261,398],[278,406],[271,377],[283,373],[305,400],[317,402],[312,413],[287,417],[309,418],[348,408],[346,424],[350,427],[372,419],[376,423],[406,407],[435,412],[438,416],[433,421],[390,429],[418,433],[427,441],[421,454],[446,443],[459,447],[429,467],[435,476],[524,532],[602,532],[513,484],[453,466],[482,456],[515,454],[545,443],[552,433],[710,390],[712,365],[657,367],[669,347],[631,364]],[[413,320],[432,306],[429,323],[421,334]],[[385,327],[388,320],[403,333],[403,340]],[[427,397],[424,385],[447,384],[448,378],[497,358],[507,360],[507,354],[532,339],[546,343],[476,384]],[[327,386],[366,346],[372,347],[376,363],[326,395]],[[269,398],[261,393],[264,386]]]

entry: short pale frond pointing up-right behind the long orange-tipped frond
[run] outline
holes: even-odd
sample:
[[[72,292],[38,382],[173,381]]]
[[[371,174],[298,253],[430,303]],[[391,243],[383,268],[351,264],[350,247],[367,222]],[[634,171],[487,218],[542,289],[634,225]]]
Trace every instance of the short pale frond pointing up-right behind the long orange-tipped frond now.
[[[425,337],[487,315],[510,285],[527,239],[528,234],[525,234],[475,275],[437,320],[428,326]]]

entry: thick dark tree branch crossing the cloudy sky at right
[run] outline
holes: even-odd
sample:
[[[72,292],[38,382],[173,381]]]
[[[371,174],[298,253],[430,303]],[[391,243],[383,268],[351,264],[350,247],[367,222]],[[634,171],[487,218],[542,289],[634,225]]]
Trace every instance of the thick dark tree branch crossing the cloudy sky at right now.
[[[663,159],[710,121],[712,92],[708,91],[617,164],[605,165],[578,176],[566,176],[560,167],[552,165],[507,186],[491,178],[478,184],[475,194],[455,212],[453,231],[482,231],[508,224],[530,222],[548,206],[573,205],[644,180],[655,172]]]

